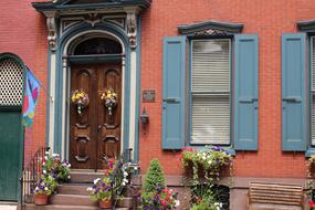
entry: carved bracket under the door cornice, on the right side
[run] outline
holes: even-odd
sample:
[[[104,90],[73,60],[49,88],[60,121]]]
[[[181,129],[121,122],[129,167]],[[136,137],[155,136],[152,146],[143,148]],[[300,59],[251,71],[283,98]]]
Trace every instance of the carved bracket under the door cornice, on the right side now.
[[[127,12],[127,35],[129,38],[129,45],[132,49],[137,48],[137,13]]]

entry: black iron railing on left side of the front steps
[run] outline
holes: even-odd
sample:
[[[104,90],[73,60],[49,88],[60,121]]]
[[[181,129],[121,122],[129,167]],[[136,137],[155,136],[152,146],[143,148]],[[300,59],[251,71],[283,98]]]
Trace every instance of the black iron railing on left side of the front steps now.
[[[49,147],[41,147],[36,150],[32,159],[28,162],[27,167],[22,171],[20,178],[21,182],[21,209],[23,210],[25,203],[33,202],[32,190],[42,174],[42,161],[45,157],[45,153],[49,151]]]

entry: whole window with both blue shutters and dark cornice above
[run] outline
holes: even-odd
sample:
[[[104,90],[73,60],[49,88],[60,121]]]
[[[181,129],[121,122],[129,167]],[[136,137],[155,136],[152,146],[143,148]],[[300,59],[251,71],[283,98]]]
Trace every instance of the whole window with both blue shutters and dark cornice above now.
[[[186,35],[164,38],[162,149],[227,145],[232,150],[258,150],[259,38],[231,35],[240,25],[211,29],[218,24],[225,25],[182,25],[179,31]]]

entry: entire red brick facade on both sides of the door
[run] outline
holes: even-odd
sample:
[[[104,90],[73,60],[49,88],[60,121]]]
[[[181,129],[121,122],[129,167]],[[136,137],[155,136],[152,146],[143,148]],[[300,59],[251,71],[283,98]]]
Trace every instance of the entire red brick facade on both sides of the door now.
[[[30,0],[1,1],[0,53],[14,53],[48,86],[48,32],[45,18]],[[315,20],[313,0],[153,0],[141,14],[141,90],[156,90],[146,107],[150,123],[139,126],[143,172],[159,158],[167,175],[180,175],[177,151],[161,149],[162,38],[178,35],[179,24],[207,20],[243,23],[243,33],[259,34],[259,150],[237,153],[235,177],[304,178],[304,153],[281,150],[281,35],[298,32],[296,22]],[[25,160],[45,144],[46,95],[41,91],[33,140],[25,143]]]

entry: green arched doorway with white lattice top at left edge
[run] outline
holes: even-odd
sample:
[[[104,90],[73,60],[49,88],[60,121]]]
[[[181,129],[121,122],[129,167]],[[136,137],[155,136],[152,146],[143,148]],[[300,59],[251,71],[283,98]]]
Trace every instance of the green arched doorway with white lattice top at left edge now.
[[[22,168],[24,64],[14,54],[0,54],[0,200],[19,199]]]

